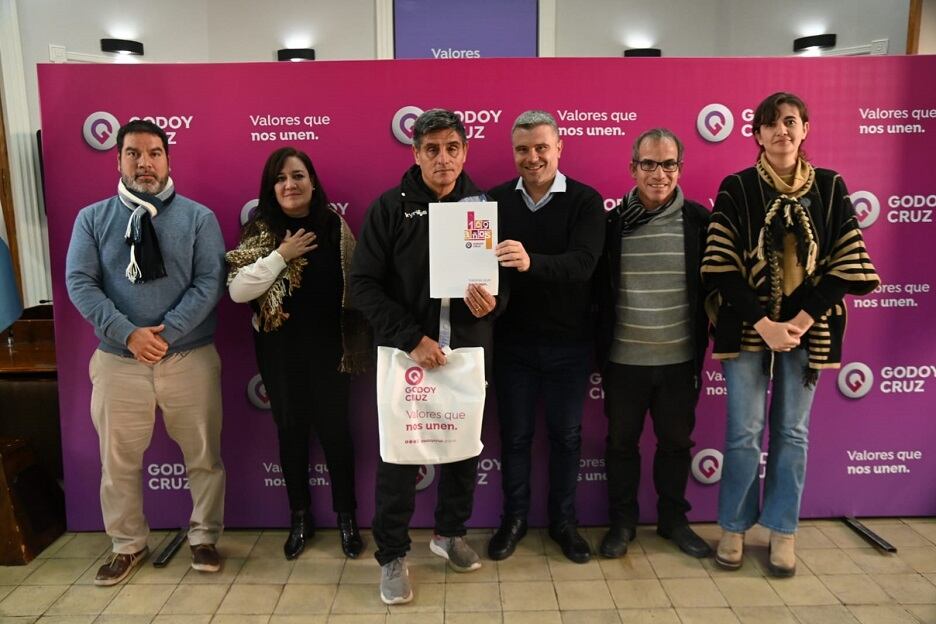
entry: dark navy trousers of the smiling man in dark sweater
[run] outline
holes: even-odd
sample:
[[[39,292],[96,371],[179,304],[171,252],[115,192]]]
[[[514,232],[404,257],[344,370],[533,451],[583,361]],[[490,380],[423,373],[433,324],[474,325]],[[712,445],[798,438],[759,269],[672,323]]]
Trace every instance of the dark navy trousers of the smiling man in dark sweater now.
[[[542,401],[549,432],[549,525],[575,526],[591,345],[498,343],[494,353],[504,514],[525,518],[530,510],[531,447]]]

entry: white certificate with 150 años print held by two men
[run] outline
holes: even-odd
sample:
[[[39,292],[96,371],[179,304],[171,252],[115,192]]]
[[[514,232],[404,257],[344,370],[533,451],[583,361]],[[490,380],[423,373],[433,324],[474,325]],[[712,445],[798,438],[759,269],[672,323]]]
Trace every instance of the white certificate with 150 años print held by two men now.
[[[429,296],[461,299],[469,284],[497,294],[497,202],[429,204]]]

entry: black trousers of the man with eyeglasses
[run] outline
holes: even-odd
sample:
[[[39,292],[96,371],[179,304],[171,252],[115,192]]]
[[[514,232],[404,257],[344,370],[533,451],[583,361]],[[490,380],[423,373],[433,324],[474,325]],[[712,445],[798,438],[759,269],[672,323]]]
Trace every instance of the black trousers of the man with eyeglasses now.
[[[608,513],[611,524],[633,528],[640,510],[640,435],[647,410],[657,438],[653,458],[657,525],[664,531],[688,523],[686,482],[692,462],[692,429],[699,398],[693,362],[666,366],[609,363],[604,371],[608,417]]]

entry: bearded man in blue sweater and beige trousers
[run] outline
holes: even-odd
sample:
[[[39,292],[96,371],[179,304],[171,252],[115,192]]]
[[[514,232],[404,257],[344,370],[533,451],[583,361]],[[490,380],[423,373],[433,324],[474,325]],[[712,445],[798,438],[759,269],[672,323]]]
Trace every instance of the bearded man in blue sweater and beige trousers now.
[[[68,295],[94,326],[91,418],[101,452],[101,512],[113,553],[96,585],[127,578],[148,554],[143,452],[157,405],[182,449],[192,491],[192,567],[217,572],[224,515],[221,363],[214,309],[224,292],[224,240],[205,206],[177,195],[169,144],[153,123],[117,133],[117,195],[78,213]]]

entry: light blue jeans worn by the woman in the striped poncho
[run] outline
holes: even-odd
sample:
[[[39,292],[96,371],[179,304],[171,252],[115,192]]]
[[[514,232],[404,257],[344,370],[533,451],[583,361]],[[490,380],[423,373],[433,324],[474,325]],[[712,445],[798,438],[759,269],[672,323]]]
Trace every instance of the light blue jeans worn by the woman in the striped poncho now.
[[[725,462],[718,495],[718,524],[742,533],[759,523],[771,531],[794,533],[806,480],[809,410],[815,387],[803,385],[806,349],[774,353],[770,438],[764,504],[760,506],[760,458],[767,420],[763,352],[742,351],[724,360],[728,386]],[[766,356],[769,357],[769,354]]]

